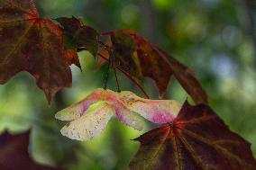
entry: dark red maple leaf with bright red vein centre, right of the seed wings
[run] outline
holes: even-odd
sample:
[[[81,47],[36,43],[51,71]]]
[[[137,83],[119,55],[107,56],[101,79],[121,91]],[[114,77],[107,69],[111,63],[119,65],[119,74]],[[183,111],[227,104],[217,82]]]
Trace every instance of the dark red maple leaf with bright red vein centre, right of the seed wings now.
[[[138,139],[133,170],[254,170],[251,145],[233,133],[207,105],[184,103],[172,123]]]

